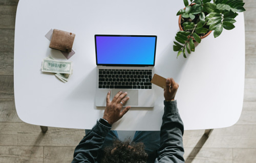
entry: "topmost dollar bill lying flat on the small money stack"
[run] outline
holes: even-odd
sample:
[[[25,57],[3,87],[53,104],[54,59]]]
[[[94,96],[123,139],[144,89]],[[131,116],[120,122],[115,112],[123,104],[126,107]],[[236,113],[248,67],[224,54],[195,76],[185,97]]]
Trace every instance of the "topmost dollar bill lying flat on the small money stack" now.
[[[72,72],[72,62],[44,59],[42,72],[68,73]]]

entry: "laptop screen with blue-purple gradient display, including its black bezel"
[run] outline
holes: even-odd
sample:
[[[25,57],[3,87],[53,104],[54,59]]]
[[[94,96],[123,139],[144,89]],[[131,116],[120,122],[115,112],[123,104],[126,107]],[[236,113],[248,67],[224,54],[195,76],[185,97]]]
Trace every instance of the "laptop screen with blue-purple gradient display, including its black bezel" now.
[[[95,35],[96,64],[154,66],[157,36]]]

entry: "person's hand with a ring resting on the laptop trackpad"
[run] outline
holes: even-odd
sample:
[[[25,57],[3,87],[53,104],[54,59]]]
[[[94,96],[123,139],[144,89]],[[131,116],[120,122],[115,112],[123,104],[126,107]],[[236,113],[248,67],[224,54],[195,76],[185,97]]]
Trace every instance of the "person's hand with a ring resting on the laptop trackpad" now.
[[[123,104],[129,100],[129,97],[125,97],[127,93],[118,92],[115,97],[110,101],[110,91],[106,95],[106,108],[104,111],[103,119],[107,120],[109,124],[113,124],[123,117],[125,113],[129,111],[131,106],[126,106],[123,111]]]

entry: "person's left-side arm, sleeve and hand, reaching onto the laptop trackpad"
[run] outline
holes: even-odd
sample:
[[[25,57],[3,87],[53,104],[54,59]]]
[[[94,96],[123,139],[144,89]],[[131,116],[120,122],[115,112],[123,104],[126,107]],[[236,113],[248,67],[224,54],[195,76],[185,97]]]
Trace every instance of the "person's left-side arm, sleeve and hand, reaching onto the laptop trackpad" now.
[[[106,123],[102,124],[97,121],[93,129],[86,134],[78,146],[75,148],[74,159],[72,163],[77,162],[97,162],[99,151],[102,148],[106,135],[109,133],[113,123],[123,117],[129,111],[131,106],[126,106],[123,110],[123,104],[129,100],[125,97],[127,93],[118,92],[112,101],[110,101],[110,93],[106,96],[106,108],[103,119]]]

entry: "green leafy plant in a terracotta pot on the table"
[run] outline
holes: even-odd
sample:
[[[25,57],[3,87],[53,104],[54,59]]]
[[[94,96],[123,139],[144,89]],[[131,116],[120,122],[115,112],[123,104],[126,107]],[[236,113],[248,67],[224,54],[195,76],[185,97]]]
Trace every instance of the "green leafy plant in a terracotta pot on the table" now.
[[[185,8],[177,13],[180,30],[175,37],[173,49],[178,51],[177,58],[186,51],[195,51],[195,43],[208,36],[211,31],[214,37],[220,36],[223,28],[232,30],[237,12],[244,12],[243,0],[183,0]]]

